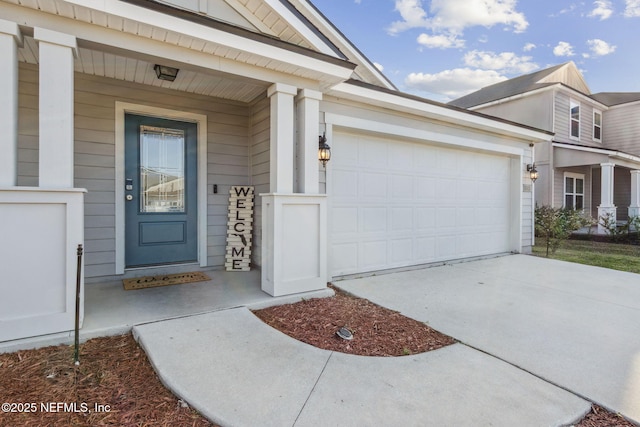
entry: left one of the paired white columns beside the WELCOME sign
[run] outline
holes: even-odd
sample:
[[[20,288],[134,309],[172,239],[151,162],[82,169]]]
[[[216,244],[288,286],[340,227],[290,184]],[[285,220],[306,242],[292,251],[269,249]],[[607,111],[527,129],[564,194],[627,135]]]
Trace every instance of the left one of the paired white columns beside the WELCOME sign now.
[[[281,83],[273,84],[267,96],[271,99],[270,192],[293,193],[294,108],[297,89]]]

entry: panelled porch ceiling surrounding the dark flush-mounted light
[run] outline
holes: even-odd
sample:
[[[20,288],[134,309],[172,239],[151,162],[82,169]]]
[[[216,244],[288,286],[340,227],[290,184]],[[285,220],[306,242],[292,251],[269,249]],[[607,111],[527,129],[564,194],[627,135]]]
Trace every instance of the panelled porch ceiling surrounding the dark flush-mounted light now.
[[[263,94],[269,83],[233,76],[214,70],[200,70],[194,66],[178,64],[166,59],[154,59],[106,46],[79,41],[75,71],[145,85],[174,89],[199,95],[212,96],[249,103]],[[127,55],[127,54],[130,55]],[[18,49],[21,62],[38,64],[38,43],[33,37],[24,37],[24,46]],[[175,81],[159,80],[153,70],[156,63],[180,69]]]

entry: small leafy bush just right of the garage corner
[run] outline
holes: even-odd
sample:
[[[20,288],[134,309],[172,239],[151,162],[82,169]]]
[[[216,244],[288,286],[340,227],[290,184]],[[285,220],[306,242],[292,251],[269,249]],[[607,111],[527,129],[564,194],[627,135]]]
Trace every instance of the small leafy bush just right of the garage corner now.
[[[575,209],[556,209],[551,206],[536,207],[536,236],[544,239],[546,256],[555,253],[563,240],[571,233],[592,224],[592,220],[585,217],[582,211]]]

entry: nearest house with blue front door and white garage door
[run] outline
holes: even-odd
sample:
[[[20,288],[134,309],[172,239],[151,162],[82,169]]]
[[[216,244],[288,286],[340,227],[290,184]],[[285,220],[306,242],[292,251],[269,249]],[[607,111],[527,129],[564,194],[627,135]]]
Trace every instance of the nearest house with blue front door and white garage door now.
[[[551,133],[397,91],[306,0],[0,17],[0,341],[73,329],[78,245],[83,287],[223,269],[232,185],[255,187],[271,295],[531,248],[526,165]]]

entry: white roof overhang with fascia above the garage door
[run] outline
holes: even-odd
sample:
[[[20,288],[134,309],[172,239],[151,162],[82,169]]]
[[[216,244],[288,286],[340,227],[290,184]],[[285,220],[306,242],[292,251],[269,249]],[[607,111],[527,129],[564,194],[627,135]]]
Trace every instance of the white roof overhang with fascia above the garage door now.
[[[447,106],[402,92],[370,86],[358,81],[340,83],[328,91],[329,95],[347,98],[368,105],[413,114],[457,126],[470,127],[489,133],[526,140],[530,143],[551,141],[553,133],[497,117]]]

